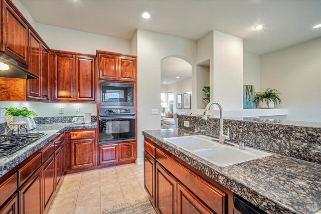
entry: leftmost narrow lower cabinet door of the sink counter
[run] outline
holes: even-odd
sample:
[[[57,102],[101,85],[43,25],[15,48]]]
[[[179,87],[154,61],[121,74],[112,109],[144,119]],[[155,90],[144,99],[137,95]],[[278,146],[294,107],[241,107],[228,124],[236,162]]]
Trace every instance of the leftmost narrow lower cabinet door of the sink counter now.
[[[155,160],[144,151],[144,188],[155,204]]]

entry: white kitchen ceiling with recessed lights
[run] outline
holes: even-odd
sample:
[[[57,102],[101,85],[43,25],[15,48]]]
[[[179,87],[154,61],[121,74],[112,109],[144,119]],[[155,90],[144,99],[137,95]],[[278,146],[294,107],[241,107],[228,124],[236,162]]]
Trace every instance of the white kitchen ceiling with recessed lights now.
[[[321,1],[21,0],[37,23],[130,40],[136,29],[198,40],[212,30],[269,53],[321,36]],[[149,12],[151,18],[142,19]],[[262,30],[253,26],[265,23]]]

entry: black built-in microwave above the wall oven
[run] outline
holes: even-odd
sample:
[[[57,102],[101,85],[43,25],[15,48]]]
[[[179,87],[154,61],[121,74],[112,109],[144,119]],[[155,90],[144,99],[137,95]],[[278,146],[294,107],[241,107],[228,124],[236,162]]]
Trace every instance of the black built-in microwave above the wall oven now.
[[[134,84],[100,83],[101,106],[133,106]]]

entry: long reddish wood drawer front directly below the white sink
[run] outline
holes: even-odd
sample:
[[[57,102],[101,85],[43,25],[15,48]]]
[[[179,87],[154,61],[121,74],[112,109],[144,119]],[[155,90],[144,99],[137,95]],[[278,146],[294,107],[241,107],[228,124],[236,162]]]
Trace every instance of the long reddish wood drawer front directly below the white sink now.
[[[156,149],[156,160],[216,213],[225,213],[226,193],[209,184],[193,171]]]

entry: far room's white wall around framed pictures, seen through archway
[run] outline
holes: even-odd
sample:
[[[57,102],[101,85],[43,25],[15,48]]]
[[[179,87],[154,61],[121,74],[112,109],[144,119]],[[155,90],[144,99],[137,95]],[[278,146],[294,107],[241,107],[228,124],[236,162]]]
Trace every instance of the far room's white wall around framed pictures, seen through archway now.
[[[182,94],[182,99],[184,99],[183,94],[185,94],[187,91],[192,91],[192,77],[186,80],[178,81],[176,83],[167,85],[167,91],[169,93],[173,92],[174,94],[174,113],[176,112],[192,113],[192,109],[184,109],[183,106],[182,106],[182,109],[176,108],[176,95]],[[191,96],[193,96],[193,94]]]

